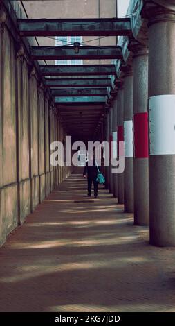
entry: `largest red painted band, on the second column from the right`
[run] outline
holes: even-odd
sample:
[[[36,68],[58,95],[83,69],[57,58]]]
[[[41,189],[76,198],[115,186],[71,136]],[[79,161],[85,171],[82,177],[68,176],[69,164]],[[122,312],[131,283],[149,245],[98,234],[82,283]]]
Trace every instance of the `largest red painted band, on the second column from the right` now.
[[[134,130],[134,157],[136,158],[149,157],[147,112],[134,114],[133,130]]]

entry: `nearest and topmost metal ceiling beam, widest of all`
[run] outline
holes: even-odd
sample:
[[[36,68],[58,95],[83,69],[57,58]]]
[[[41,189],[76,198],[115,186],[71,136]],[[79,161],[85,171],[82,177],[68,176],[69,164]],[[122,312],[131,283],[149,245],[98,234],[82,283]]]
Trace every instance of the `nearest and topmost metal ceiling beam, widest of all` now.
[[[129,18],[18,19],[21,36],[131,35]]]

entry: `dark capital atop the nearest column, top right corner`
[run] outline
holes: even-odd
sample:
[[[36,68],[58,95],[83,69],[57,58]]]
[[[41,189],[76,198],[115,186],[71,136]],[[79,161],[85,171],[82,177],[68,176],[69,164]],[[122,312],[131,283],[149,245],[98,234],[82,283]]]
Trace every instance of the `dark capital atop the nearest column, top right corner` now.
[[[171,2],[171,0],[145,1],[142,18],[148,19],[148,27],[161,22],[175,22],[175,4]]]

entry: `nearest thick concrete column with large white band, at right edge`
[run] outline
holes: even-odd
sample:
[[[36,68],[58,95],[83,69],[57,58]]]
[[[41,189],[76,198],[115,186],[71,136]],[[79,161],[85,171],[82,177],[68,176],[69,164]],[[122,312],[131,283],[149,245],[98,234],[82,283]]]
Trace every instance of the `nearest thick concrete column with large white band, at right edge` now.
[[[175,10],[150,9],[148,26],[150,243],[175,246]]]

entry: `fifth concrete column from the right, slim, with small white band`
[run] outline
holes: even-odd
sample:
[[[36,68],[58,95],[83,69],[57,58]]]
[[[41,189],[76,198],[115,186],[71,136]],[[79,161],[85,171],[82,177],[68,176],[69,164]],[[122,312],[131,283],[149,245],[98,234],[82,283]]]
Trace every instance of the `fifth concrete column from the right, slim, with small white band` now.
[[[117,98],[113,101],[113,141],[117,141],[117,119],[118,111],[117,111]],[[116,146],[117,147],[117,146]],[[113,197],[118,197],[118,175],[116,173],[113,174]]]

